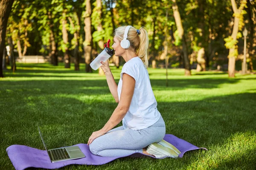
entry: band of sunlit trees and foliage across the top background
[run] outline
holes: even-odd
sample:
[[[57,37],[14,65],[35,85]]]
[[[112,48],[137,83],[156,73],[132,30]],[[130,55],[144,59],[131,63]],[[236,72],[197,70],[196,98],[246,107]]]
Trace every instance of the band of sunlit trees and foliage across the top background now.
[[[234,61],[243,54],[241,31],[246,27],[250,35],[247,62],[253,70],[255,16],[252,0],[15,0],[6,39],[12,37],[16,56],[49,56],[53,65],[62,58],[66,68],[75,62],[79,70],[80,60],[89,64],[108,39],[113,42],[115,28],[144,26],[150,41],[150,67],[162,67],[167,55],[169,67],[190,70],[197,65],[198,71],[204,71],[229,64],[234,71]]]

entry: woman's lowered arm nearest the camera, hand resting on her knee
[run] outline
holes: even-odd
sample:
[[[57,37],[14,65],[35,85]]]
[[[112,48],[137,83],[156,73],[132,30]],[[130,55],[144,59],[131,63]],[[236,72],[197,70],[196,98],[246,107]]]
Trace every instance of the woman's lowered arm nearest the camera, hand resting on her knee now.
[[[125,114],[128,112],[131,105],[131,99],[134,94],[135,79],[129,76],[128,74],[124,73],[122,80],[123,82],[122,82],[122,92],[120,96],[120,101],[115,111],[112,113],[110,119],[105,124],[105,126],[102,127],[101,130],[93,132],[93,134],[88,139],[88,144],[91,144],[94,139],[104,135],[113,127],[115,127],[117,124],[119,124],[119,122],[121,122],[121,120],[125,117]]]

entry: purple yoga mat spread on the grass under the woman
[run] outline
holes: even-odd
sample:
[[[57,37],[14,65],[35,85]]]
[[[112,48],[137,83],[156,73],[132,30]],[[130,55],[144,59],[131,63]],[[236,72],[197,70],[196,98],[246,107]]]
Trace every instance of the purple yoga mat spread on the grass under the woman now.
[[[185,152],[189,150],[196,150],[196,149],[205,149],[203,147],[196,147],[195,145],[184,141],[183,139],[179,139],[174,135],[166,134],[164,140],[171,143],[178,150],[180,150],[179,157],[181,158]],[[75,146],[79,146],[81,151],[86,156],[85,158],[81,159],[74,159],[69,161],[61,161],[52,163],[49,159],[46,150],[39,150],[36,148],[14,144],[7,147],[6,151],[9,158],[12,161],[13,166],[16,170],[24,170],[28,167],[37,167],[37,168],[47,168],[47,169],[55,169],[64,167],[69,164],[86,164],[86,165],[101,165],[106,164],[110,161],[113,161],[117,158],[121,157],[102,157],[93,155],[87,144],[76,144]],[[127,155],[130,156],[130,155]],[[132,154],[131,157],[138,157],[138,156],[145,156],[142,153],[135,153]],[[125,156],[123,156],[125,157]]]

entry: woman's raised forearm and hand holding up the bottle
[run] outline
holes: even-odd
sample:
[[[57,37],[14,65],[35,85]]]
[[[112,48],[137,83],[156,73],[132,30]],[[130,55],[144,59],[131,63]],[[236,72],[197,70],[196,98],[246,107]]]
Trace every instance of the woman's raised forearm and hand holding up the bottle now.
[[[118,93],[117,93],[117,85],[116,85],[115,79],[113,77],[113,74],[111,73],[111,70],[109,68],[108,60],[106,62],[101,61],[101,64],[102,64],[101,68],[106,75],[106,79],[108,82],[108,88],[109,88],[112,96],[114,97],[115,101],[118,103],[119,99],[118,99]]]

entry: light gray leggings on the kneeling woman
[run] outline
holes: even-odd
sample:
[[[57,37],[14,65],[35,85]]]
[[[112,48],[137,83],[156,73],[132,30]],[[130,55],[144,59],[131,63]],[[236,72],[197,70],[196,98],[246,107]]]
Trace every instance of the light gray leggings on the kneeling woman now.
[[[91,153],[99,156],[128,156],[143,153],[142,148],[160,142],[166,133],[162,116],[150,127],[133,130],[116,127],[103,136],[94,139],[89,145]]]

